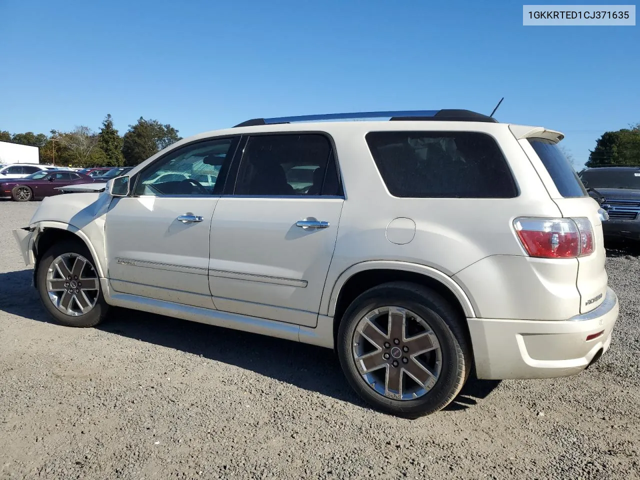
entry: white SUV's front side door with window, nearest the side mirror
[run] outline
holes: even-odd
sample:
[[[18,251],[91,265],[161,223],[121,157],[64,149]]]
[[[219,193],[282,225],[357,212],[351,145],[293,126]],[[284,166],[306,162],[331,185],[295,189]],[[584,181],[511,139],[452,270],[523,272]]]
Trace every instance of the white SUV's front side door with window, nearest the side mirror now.
[[[136,175],[130,196],[113,199],[105,238],[115,291],[214,308],[207,279],[209,230],[223,179],[207,186],[195,179],[226,171],[236,145],[237,137],[178,147]]]

